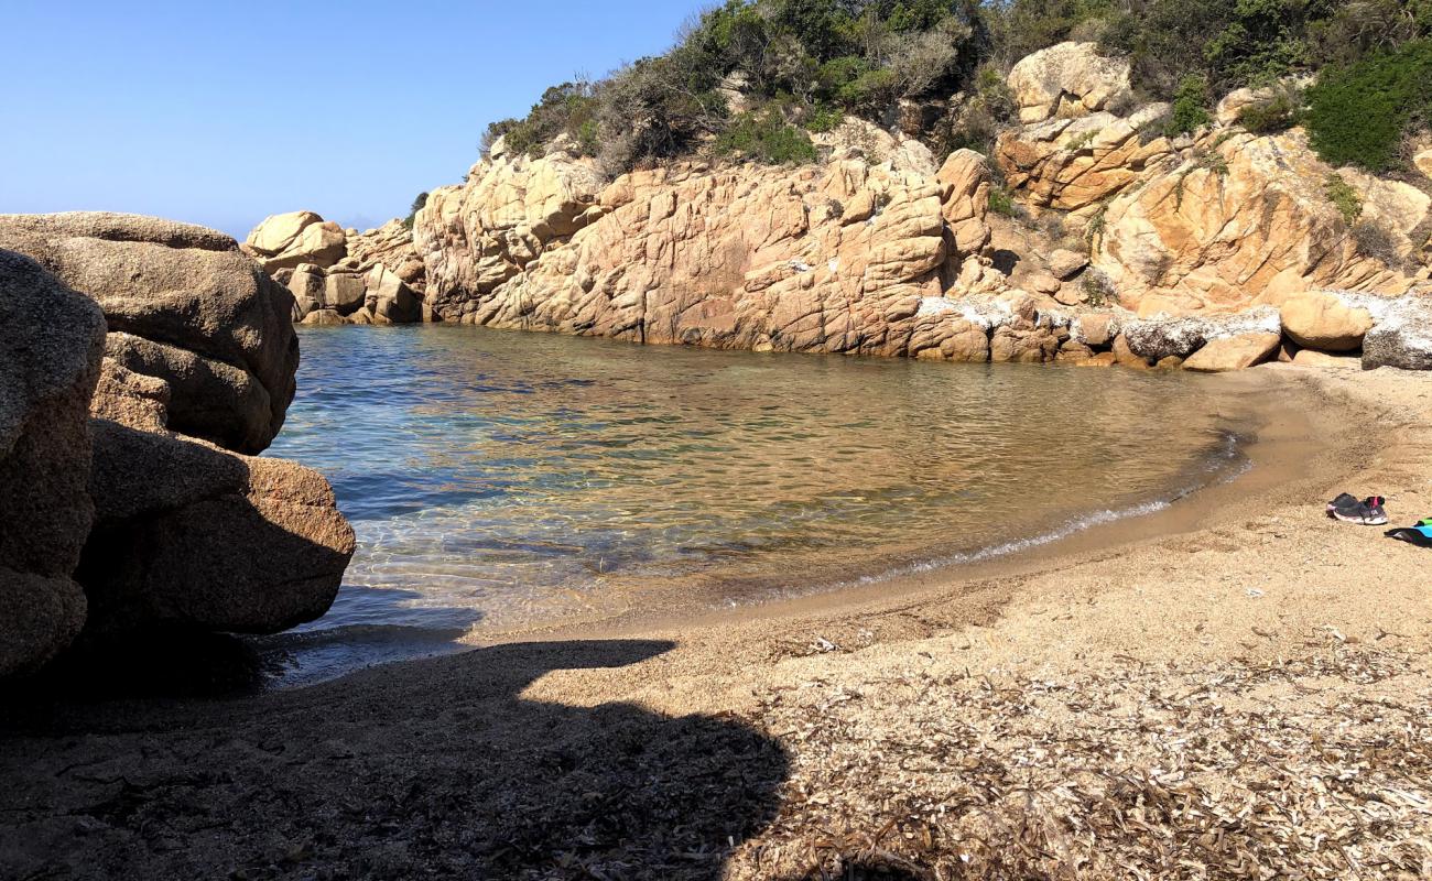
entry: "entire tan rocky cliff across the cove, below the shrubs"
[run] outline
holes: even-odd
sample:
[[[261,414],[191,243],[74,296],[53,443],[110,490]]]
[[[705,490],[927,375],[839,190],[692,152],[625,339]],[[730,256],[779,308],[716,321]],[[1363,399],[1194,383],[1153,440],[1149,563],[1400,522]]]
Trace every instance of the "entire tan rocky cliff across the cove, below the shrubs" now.
[[[1405,352],[1429,345],[1432,183],[1330,168],[1297,129],[1239,127],[1253,93],[1166,135],[1169,106],[1140,106],[1127,62],[1090,43],[1021,60],[1007,86],[1018,122],[990,165],[969,150],[937,163],[853,117],[816,138],[816,165],[693,159],[614,180],[561,139],[540,156],[498,140],[432,191],[411,234],[392,222],[337,248],[299,212],[248,246],[312,324],[1227,370],[1342,334],[1285,328],[1285,304],[1306,322],[1312,298],[1396,337],[1403,354],[1373,347],[1368,365],[1411,367]],[[988,212],[997,180],[1012,218]],[[1339,340],[1319,351],[1363,350]]]

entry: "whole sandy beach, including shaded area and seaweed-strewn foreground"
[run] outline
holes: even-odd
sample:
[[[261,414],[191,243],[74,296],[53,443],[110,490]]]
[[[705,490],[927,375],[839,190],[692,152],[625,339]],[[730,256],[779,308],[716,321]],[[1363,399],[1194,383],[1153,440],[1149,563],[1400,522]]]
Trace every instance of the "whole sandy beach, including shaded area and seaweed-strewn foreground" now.
[[[1322,516],[1432,514],[1432,377],[1307,377],[1336,437],[898,599],[11,706],[0,875],[1432,874],[1432,552]]]

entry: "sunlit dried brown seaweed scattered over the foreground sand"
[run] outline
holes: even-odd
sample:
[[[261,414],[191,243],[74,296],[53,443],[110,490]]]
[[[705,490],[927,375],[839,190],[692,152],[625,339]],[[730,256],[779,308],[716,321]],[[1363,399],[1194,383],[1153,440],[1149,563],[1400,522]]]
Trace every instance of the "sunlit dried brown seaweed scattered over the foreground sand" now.
[[[770,690],[750,721],[790,751],[790,779],[727,875],[1428,878],[1432,703],[1382,688],[1412,665],[1337,643]]]

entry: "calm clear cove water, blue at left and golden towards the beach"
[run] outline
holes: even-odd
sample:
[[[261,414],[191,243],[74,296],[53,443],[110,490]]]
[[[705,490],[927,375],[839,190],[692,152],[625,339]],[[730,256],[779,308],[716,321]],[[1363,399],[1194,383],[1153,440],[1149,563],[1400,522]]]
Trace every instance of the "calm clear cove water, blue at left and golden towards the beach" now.
[[[1148,510],[1234,456],[1210,382],[1186,374],[464,327],[301,337],[271,454],[328,476],[359,546],[329,615],[274,640],[296,680],[474,629],[998,553]]]

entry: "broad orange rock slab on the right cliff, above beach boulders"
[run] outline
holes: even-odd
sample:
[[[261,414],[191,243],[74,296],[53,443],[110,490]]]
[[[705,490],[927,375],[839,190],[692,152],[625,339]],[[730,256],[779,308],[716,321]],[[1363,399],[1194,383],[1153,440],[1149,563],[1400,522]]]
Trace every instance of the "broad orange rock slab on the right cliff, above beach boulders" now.
[[[1330,173],[1300,132],[1210,133],[1108,202],[1093,265],[1141,315],[1408,289],[1411,278],[1359,249],[1327,195]]]

